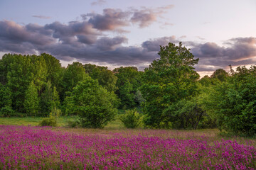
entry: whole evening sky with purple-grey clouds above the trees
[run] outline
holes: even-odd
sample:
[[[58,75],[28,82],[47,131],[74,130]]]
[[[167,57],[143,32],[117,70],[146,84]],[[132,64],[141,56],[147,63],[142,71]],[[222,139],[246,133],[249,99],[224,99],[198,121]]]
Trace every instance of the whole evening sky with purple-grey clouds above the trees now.
[[[182,42],[196,71],[256,64],[255,0],[0,0],[0,57],[53,55],[143,70],[159,45]]]

